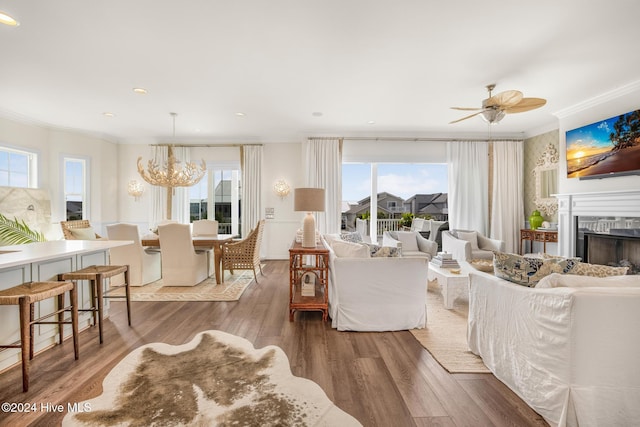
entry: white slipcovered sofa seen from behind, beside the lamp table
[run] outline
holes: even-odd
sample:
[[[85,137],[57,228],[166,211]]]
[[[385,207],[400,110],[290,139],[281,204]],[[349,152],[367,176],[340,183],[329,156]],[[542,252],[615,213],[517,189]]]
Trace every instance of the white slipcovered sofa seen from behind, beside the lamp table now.
[[[376,257],[369,250],[329,248],[329,315],[340,331],[397,331],[424,328],[427,321],[426,258]],[[339,245],[334,248],[333,246]],[[342,256],[340,256],[342,255]]]

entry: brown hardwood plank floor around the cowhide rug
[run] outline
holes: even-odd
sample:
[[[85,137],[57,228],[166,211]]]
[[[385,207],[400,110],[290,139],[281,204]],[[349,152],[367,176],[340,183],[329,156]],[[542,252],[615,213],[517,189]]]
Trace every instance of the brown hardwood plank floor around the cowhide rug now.
[[[0,426],[55,426],[63,405],[95,397],[106,374],[131,350],[152,342],[183,344],[203,330],[240,335],[255,347],[281,347],[294,375],[318,383],[364,426],[546,426],[491,374],[449,374],[407,331],[338,332],[320,312],[288,316],[288,262],[269,261],[259,284],[238,302],[112,302],[104,344],[97,328],[80,334],[80,360],[68,340],[36,355],[29,392],[20,367],[0,374],[0,402],[35,403],[30,413],[0,413]]]

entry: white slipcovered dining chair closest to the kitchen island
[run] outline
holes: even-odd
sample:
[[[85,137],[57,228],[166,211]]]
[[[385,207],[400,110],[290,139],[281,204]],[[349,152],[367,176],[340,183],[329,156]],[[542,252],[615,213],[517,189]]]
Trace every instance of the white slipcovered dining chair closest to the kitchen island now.
[[[140,243],[140,232],[135,224],[107,225],[109,240],[133,240],[132,245],[109,249],[111,265],[129,265],[129,285],[143,286],[161,277],[160,253],[148,251]],[[114,278],[117,283],[120,278]]]

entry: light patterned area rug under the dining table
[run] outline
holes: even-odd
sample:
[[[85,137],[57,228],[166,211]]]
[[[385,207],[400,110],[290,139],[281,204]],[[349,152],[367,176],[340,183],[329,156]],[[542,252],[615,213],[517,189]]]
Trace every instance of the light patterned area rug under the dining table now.
[[[209,277],[195,286],[164,286],[162,279],[144,286],[132,286],[132,301],[237,301],[253,281],[253,272],[244,270],[230,274],[225,271],[224,283]],[[124,295],[124,288],[112,295]]]

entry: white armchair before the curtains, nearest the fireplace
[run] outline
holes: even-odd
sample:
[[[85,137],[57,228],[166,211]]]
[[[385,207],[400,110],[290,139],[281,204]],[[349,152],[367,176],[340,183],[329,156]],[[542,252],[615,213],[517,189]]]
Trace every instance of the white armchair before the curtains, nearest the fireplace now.
[[[493,259],[493,251],[504,252],[504,242],[477,231],[446,230],[442,232],[442,250],[458,261]]]

